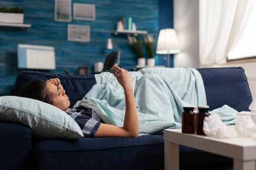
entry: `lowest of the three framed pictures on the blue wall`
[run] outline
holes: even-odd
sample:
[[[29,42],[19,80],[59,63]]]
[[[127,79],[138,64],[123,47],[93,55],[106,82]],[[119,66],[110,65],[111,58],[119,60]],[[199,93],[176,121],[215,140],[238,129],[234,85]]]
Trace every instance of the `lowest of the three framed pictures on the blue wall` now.
[[[90,26],[69,24],[67,26],[67,40],[90,42]]]

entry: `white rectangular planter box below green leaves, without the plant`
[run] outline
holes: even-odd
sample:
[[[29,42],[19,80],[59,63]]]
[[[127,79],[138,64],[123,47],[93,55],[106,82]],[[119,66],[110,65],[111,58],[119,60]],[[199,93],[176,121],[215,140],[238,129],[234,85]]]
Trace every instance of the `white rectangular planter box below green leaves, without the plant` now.
[[[20,23],[23,24],[24,14],[2,13],[0,12],[0,22],[2,23]]]

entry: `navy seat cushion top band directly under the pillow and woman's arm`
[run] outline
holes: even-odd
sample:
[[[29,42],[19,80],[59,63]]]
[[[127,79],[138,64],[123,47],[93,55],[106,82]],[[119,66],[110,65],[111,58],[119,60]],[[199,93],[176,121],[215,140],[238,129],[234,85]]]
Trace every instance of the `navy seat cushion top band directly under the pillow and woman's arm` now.
[[[38,151],[90,151],[119,147],[133,147],[163,143],[163,135],[148,135],[137,138],[81,138],[71,140],[47,140],[33,146]]]

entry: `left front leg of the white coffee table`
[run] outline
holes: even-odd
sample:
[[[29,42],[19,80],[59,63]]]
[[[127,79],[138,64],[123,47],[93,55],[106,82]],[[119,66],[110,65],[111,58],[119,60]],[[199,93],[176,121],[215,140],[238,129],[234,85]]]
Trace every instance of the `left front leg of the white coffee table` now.
[[[164,162],[165,170],[180,169],[179,144],[164,142]]]

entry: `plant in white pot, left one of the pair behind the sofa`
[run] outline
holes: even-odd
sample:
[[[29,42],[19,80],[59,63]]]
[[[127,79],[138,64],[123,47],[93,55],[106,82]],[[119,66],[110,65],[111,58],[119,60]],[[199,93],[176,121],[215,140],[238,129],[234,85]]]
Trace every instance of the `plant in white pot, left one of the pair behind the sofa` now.
[[[145,66],[146,59],[143,57],[140,40],[137,40],[136,37],[131,37],[130,35],[128,35],[128,44],[131,46],[131,49],[134,51],[135,55],[137,56],[138,65]]]

